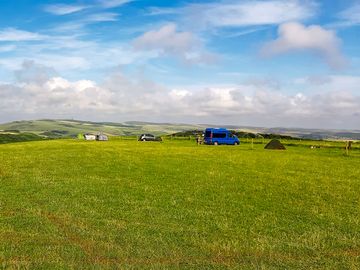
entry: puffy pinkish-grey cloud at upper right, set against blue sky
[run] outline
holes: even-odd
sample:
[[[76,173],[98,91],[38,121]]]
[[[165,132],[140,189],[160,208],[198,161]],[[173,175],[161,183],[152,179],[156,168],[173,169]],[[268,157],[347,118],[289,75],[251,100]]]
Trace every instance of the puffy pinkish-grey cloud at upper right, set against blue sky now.
[[[280,25],[278,38],[262,49],[264,56],[310,51],[321,56],[332,68],[342,68],[346,59],[340,51],[341,41],[334,31],[318,25],[304,26],[290,22]]]

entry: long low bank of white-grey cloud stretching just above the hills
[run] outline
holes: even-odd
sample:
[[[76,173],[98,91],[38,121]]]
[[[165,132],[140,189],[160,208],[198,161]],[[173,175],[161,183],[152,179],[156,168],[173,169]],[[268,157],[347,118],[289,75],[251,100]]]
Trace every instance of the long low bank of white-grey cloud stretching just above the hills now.
[[[329,91],[285,94],[267,84],[166,88],[142,77],[121,72],[103,83],[69,81],[32,62],[16,73],[18,82],[0,85],[0,118],[77,117],[94,120],[186,121],[264,126],[354,127],[360,115],[357,87],[348,78],[338,89],[334,78],[324,82]],[[299,81],[304,88],[311,85]],[[296,123],[295,123],[296,122]]]

